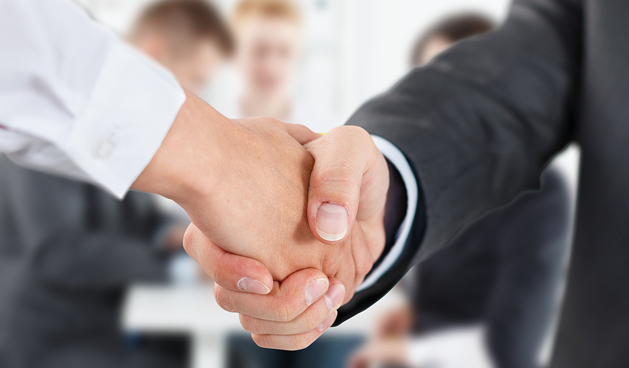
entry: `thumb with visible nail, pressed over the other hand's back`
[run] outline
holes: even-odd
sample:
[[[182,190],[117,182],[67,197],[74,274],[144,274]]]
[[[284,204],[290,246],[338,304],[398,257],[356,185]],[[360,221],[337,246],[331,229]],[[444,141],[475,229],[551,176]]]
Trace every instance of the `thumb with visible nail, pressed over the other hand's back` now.
[[[342,126],[305,145],[315,158],[308,192],[308,223],[315,237],[326,244],[345,240],[356,219],[363,173],[373,149],[363,141],[371,141],[366,131]]]

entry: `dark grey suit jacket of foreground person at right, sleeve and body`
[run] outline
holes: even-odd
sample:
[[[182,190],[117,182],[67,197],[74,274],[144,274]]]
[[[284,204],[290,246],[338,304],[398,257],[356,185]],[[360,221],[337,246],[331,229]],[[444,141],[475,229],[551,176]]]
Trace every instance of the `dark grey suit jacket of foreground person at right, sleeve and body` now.
[[[500,29],[455,45],[356,112],[349,124],[407,157],[425,217],[413,250],[341,321],[466,223],[537,188],[549,159],[577,141],[577,223],[551,366],[627,366],[628,14],[626,0],[515,0]]]

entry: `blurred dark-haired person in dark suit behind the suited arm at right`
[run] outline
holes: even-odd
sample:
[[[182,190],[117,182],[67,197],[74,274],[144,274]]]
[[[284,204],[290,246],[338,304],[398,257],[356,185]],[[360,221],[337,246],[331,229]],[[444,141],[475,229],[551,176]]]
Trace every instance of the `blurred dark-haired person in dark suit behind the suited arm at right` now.
[[[482,15],[447,17],[419,37],[411,65],[484,34]],[[352,368],[533,368],[556,315],[569,250],[570,198],[560,172],[463,230],[401,286],[407,304],[379,321]]]

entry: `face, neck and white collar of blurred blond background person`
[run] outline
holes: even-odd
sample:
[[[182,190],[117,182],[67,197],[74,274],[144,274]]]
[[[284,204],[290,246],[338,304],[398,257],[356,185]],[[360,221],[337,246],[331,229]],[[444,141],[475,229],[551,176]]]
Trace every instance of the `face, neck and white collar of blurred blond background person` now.
[[[270,116],[326,132],[340,125],[333,115],[292,95],[303,48],[303,16],[291,0],[243,0],[231,16],[240,96],[225,106],[227,117]]]

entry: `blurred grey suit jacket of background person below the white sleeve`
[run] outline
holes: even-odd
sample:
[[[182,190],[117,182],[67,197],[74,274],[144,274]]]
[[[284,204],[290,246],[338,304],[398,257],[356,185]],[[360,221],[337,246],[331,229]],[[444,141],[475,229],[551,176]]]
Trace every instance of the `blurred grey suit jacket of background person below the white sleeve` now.
[[[172,222],[152,198],[120,202],[4,156],[0,173],[0,366],[182,366],[163,351],[131,351],[120,331],[126,286],[166,278],[154,239]]]

